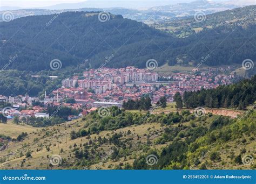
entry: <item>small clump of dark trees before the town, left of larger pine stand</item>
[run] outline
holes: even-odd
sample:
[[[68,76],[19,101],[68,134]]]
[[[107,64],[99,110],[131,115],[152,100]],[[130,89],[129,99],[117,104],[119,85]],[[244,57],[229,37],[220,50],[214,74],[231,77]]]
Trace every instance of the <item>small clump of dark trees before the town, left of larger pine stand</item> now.
[[[149,110],[151,108],[151,99],[149,96],[142,97],[140,98],[140,100],[137,99],[136,101],[129,99],[127,102],[124,101],[123,108],[127,110],[132,110],[132,109]]]

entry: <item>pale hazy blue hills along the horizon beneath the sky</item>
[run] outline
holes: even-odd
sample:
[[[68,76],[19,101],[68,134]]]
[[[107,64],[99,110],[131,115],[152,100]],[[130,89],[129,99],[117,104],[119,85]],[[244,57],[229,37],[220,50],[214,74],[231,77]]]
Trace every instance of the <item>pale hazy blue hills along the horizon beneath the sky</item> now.
[[[238,8],[239,6],[232,4],[221,4],[221,3],[213,3],[206,0],[195,1],[191,3],[178,3],[174,5],[164,5],[164,6],[153,6],[153,8],[144,8],[142,9],[127,9],[127,8],[111,8],[111,7],[129,7],[126,6],[126,3],[130,2],[112,2],[107,3],[107,7],[103,6],[104,2],[102,1],[91,1],[82,2],[82,3],[66,3],[66,4],[58,4],[54,6],[44,7],[43,9],[23,9],[23,10],[14,10],[11,11],[14,15],[14,18],[25,17],[30,15],[50,15],[53,13],[60,13],[66,11],[108,11],[114,15],[122,15],[124,18],[129,18],[132,20],[137,20],[140,22],[144,22],[147,24],[152,24],[155,22],[170,20],[172,18],[177,17],[185,17],[185,16],[193,16],[196,11],[203,11],[206,15],[214,12],[224,11],[227,9]],[[144,2],[144,1],[142,1]],[[161,2],[161,1],[159,1]],[[161,3],[167,3],[161,2]],[[141,2],[140,2],[141,3]],[[160,4],[161,4],[160,3]],[[174,2],[172,2],[174,3]],[[144,7],[147,7],[144,2]],[[157,3],[156,3],[157,4]],[[152,4],[153,5],[153,4]],[[86,8],[82,8],[86,7]],[[96,9],[93,7],[99,7],[102,9]],[[104,8],[103,8],[104,7]],[[2,17],[5,11],[0,11],[0,17]]]

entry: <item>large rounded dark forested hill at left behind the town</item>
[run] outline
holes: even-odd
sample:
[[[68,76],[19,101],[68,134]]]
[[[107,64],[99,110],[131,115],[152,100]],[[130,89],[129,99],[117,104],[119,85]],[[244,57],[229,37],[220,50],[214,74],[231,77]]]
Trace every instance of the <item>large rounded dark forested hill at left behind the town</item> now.
[[[65,12],[1,23],[1,68],[16,54],[17,59],[9,68],[42,70],[50,69],[52,59],[62,61],[62,67],[77,66],[102,52],[105,52],[103,60],[97,58],[97,62],[91,62],[92,67],[99,67],[112,54],[113,62],[118,61],[118,65],[113,63],[117,67],[136,65],[138,60],[144,63],[140,67],[145,67],[147,60],[159,58],[161,49],[178,41],[122,16],[106,14],[99,19],[98,15],[98,12]],[[144,47],[149,52],[139,54]],[[126,49],[130,52],[118,55]]]

